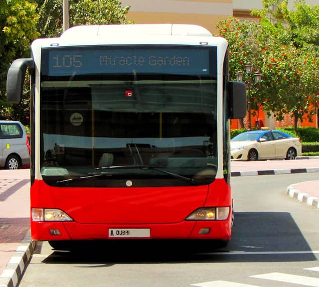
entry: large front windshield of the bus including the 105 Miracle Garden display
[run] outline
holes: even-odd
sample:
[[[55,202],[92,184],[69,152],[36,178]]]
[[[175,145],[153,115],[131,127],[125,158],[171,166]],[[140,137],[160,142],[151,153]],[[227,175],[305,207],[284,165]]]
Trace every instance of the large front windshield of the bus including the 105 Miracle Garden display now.
[[[211,183],[216,57],[214,47],[43,49],[44,181],[88,187]]]

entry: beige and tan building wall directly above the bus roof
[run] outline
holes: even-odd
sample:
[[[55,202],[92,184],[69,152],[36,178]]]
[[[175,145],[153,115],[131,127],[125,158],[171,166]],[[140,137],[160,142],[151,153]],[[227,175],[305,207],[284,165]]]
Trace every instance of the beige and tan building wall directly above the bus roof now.
[[[233,13],[233,0],[122,0],[128,20],[142,23],[197,24],[215,33],[216,23]]]

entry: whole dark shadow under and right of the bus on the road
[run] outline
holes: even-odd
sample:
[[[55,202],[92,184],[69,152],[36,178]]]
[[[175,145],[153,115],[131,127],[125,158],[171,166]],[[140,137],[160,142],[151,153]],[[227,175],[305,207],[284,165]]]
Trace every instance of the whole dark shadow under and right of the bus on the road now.
[[[72,243],[71,251],[53,250],[44,263],[203,263],[316,261],[290,213],[237,212],[232,240],[218,249],[211,242],[121,240]],[[96,267],[96,266],[95,266]]]

